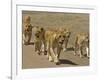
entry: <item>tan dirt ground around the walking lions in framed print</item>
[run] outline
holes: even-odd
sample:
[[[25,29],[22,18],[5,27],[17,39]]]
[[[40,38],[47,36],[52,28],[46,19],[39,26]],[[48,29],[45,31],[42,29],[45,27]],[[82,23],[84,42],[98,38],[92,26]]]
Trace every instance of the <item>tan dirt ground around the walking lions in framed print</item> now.
[[[49,68],[49,67],[72,67],[72,66],[88,66],[89,59],[84,57],[73,55],[73,47],[75,34],[79,32],[89,32],[89,14],[79,13],[50,13],[50,12],[22,12],[22,17],[26,15],[31,16],[32,25],[48,27],[68,27],[71,30],[71,37],[68,43],[68,50],[61,52],[60,61],[61,65],[55,65],[53,62],[49,62],[46,56],[38,55],[34,52],[34,45],[23,45],[22,53],[22,68]],[[22,20],[22,22],[23,22]],[[32,36],[31,42],[33,42],[34,36]]]

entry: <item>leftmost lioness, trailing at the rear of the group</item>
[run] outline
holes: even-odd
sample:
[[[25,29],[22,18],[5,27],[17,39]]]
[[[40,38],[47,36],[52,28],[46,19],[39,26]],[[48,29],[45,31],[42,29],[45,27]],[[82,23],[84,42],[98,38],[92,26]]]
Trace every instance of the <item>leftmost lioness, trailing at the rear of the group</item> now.
[[[32,28],[33,26],[31,25],[31,17],[26,16],[24,22],[24,32],[23,32],[23,43],[25,45],[30,43],[32,37]]]

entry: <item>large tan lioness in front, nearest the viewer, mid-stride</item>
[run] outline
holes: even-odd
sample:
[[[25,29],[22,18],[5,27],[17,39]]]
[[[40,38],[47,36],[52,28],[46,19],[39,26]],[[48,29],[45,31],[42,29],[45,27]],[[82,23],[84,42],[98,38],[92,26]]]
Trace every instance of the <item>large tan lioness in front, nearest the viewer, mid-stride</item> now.
[[[49,61],[54,61],[57,65],[59,62],[59,56],[62,50],[62,45],[66,35],[61,31],[46,31],[45,41],[46,50]],[[57,50],[56,50],[57,49]],[[55,52],[56,51],[56,52]]]

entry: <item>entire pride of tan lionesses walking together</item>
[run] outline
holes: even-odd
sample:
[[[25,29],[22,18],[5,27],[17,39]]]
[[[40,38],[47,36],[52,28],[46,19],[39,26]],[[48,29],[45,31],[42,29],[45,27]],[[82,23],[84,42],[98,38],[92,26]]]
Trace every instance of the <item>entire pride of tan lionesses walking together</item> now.
[[[34,33],[34,35],[32,35]],[[34,36],[35,52],[39,55],[44,53],[50,62],[56,65],[60,64],[61,51],[67,51],[67,44],[72,32],[66,27],[53,29],[44,28],[41,26],[32,26],[31,17],[26,16],[23,32],[23,43],[30,44],[31,37]],[[82,58],[83,49],[86,51],[86,56],[89,57],[89,35],[87,33],[78,33],[75,36],[74,55],[79,55]]]

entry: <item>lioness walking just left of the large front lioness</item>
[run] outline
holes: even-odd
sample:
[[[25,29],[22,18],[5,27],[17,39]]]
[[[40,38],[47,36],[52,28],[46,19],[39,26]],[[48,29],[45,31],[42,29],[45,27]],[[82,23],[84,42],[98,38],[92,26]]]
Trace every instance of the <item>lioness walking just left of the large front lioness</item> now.
[[[33,28],[34,32],[34,44],[35,44],[35,51],[40,55],[42,52],[41,48],[42,45],[45,45],[45,29],[39,26]],[[46,48],[44,47],[44,55],[46,54]]]

